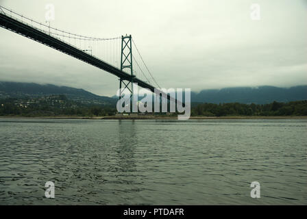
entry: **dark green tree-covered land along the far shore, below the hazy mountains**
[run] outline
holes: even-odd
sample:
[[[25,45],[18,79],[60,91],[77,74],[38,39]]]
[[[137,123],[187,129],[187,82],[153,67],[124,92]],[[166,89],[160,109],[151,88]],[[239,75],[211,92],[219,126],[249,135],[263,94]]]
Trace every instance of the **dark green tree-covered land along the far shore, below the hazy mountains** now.
[[[39,100],[0,99],[0,116],[113,116],[117,112],[115,106],[84,105],[70,101],[64,95]],[[307,116],[307,101],[274,101],[268,104],[193,103],[191,116]]]

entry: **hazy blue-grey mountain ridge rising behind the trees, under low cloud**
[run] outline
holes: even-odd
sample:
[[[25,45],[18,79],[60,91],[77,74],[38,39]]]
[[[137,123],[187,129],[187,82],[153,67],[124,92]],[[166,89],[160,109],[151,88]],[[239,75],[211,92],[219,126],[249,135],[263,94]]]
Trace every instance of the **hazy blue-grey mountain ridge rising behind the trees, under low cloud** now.
[[[48,96],[64,94],[68,99],[83,103],[114,105],[114,96],[99,96],[82,88],[56,86],[50,83],[24,83],[0,81],[0,99]],[[140,97],[142,99],[142,97]],[[265,104],[273,101],[289,102],[307,100],[307,86],[278,88],[275,86],[235,87],[201,90],[191,92],[191,101],[197,103],[256,103]]]

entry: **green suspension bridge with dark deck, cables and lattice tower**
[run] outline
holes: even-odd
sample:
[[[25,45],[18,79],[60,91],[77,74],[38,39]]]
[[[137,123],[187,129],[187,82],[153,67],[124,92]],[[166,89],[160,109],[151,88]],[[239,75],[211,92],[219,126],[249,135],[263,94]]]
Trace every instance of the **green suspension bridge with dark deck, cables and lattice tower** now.
[[[119,88],[122,92],[126,89],[133,95],[133,84],[137,83],[138,86],[147,88],[151,92],[155,92],[156,89],[156,94],[162,94],[161,96],[167,96],[168,100],[176,101],[170,94],[160,90],[159,84],[145,64],[131,35],[95,38],[73,34],[51,27],[50,23],[46,25],[46,23],[34,21],[1,5],[0,27],[119,77]],[[119,95],[119,99],[121,97],[122,94]]]

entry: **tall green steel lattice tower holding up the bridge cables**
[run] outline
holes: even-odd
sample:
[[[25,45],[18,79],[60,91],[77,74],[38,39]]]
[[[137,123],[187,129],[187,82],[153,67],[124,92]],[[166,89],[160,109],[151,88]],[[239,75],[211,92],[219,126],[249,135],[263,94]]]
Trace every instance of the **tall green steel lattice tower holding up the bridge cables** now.
[[[121,84],[125,86],[122,91],[125,89],[129,90],[131,96],[133,96],[133,79],[135,75],[133,75],[133,68],[132,68],[132,38],[130,36],[121,36],[121,70],[125,68],[129,68],[128,71],[131,74],[131,80],[125,82],[123,78],[119,79],[119,89],[121,90]],[[131,97],[130,96],[130,97]],[[119,92],[119,99],[122,98],[121,91]]]

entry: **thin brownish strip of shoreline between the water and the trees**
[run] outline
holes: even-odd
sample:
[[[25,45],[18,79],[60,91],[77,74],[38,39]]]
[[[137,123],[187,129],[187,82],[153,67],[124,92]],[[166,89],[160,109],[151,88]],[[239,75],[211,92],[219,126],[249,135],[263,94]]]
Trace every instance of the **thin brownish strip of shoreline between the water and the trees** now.
[[[88,119],[88,120],[178,120],[177,116],[0,116],[27,119]],[[191,116],[189,119],[293,119],[307,116]]]

